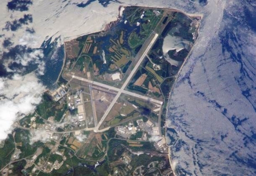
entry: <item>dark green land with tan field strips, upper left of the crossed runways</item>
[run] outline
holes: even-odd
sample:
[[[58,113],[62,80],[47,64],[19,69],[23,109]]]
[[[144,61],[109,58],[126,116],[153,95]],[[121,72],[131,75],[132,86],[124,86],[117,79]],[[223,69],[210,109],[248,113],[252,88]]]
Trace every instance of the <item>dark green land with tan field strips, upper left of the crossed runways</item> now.
[[[65,69],[119,87],[142,44],[163,18],[164,10],[127,7],[123,21],[109,30],[65,42]],[[132,14],[130,14],[132,13]],[[112,79],[114,73],[120,79]],[[119,83],[120,82],[120,83]]]

